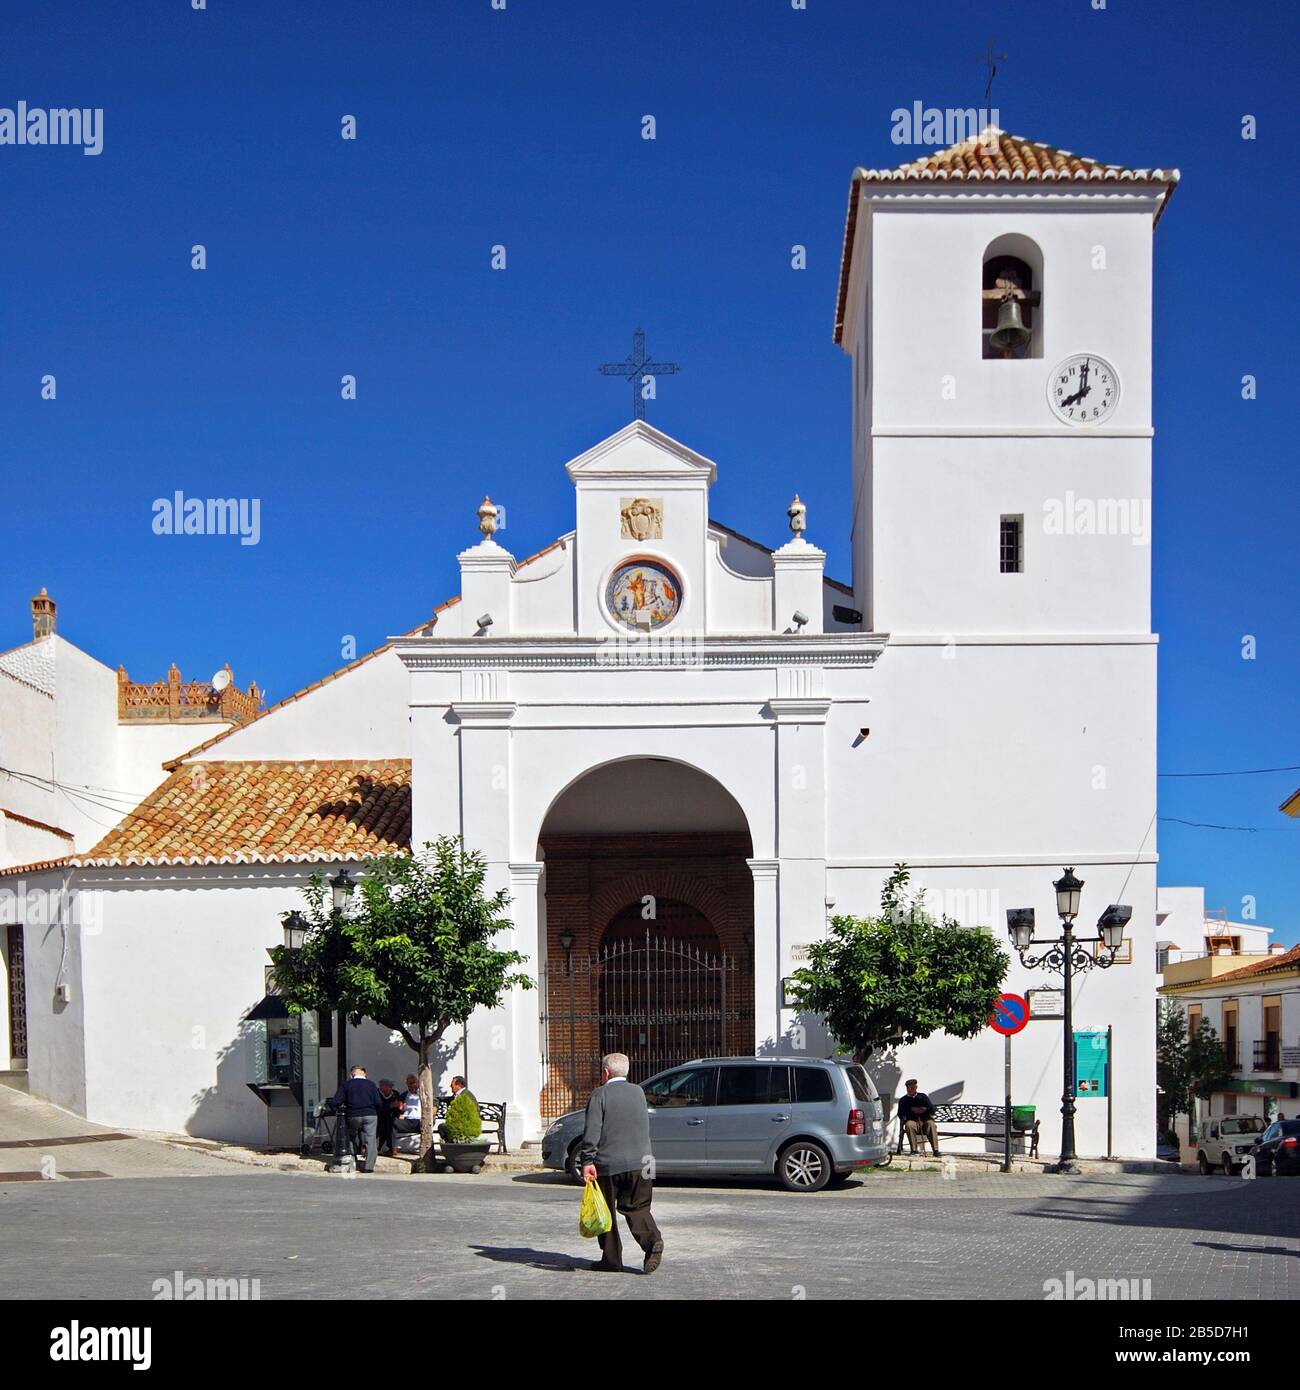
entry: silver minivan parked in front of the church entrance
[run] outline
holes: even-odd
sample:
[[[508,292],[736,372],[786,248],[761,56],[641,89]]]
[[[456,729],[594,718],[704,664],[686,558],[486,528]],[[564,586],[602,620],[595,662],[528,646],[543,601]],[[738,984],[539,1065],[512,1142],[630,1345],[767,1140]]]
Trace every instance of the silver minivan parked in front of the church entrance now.
[[[776,1177],[791,1193],[888,1159],[884,1109],[866,1069],[838,1058],[706,1056],[641,1083],[655,1175]],[[578,1179],[584,1111],[562,1115],[542,1162]]]

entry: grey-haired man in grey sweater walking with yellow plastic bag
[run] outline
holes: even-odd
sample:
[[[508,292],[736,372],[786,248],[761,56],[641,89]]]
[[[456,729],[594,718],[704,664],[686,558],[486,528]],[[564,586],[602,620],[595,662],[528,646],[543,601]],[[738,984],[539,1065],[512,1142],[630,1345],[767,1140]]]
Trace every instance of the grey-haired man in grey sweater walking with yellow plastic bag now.
[[[645,1251],[641,1268],[652,1275],[663,1259],[663,1236],[651,1215],[653,1155],[649,1147],[649,1116],[645,1091],[627,1080],[631,1063],[621,1052],[610,1052],[601,1062],[601,1084],[587,1102],[587,1130],[580,1158],[583,1180],[595,1182],[609,1205],[613,1225],[601,1237],[601,1259],[591,1268],[602,1273],[623,1269],[623,1241],[619,1218],[627,1218],[633,1240]]]

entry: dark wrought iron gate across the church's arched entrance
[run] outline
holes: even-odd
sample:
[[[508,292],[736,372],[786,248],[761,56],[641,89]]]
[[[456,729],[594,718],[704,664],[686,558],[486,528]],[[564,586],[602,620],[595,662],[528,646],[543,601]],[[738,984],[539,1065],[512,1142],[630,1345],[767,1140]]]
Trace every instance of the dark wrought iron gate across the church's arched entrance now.
[[[601,1058],[626,1052],[642,1081],[692,1056],[734,1047],[737,960],[673,937],[623,938],[594,956],[552,958],[546,972],[542,1113],[563,1115],[601,1080]]]

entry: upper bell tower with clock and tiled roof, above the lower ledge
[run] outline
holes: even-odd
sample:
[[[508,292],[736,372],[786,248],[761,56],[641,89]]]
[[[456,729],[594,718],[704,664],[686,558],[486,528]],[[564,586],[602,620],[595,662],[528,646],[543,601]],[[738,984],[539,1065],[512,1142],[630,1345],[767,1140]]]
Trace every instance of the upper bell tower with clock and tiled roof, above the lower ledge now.
[[[1150,632],[1153,229],[1176,182],[991,126],[854,172],[836,342],[863,626]]]

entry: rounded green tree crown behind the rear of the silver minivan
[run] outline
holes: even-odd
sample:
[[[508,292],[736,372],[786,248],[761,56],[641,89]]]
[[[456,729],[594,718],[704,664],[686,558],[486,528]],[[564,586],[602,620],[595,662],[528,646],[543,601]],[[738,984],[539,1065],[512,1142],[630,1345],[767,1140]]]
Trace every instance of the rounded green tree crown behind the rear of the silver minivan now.
[[[819,1013],[844,1052],[865,1062],[932,1033],[969,1038],[989,1026],[1009,960],[987,929],[934,917],[895,865],[873,917],[834,917],[794,973],[798,1008]]]

